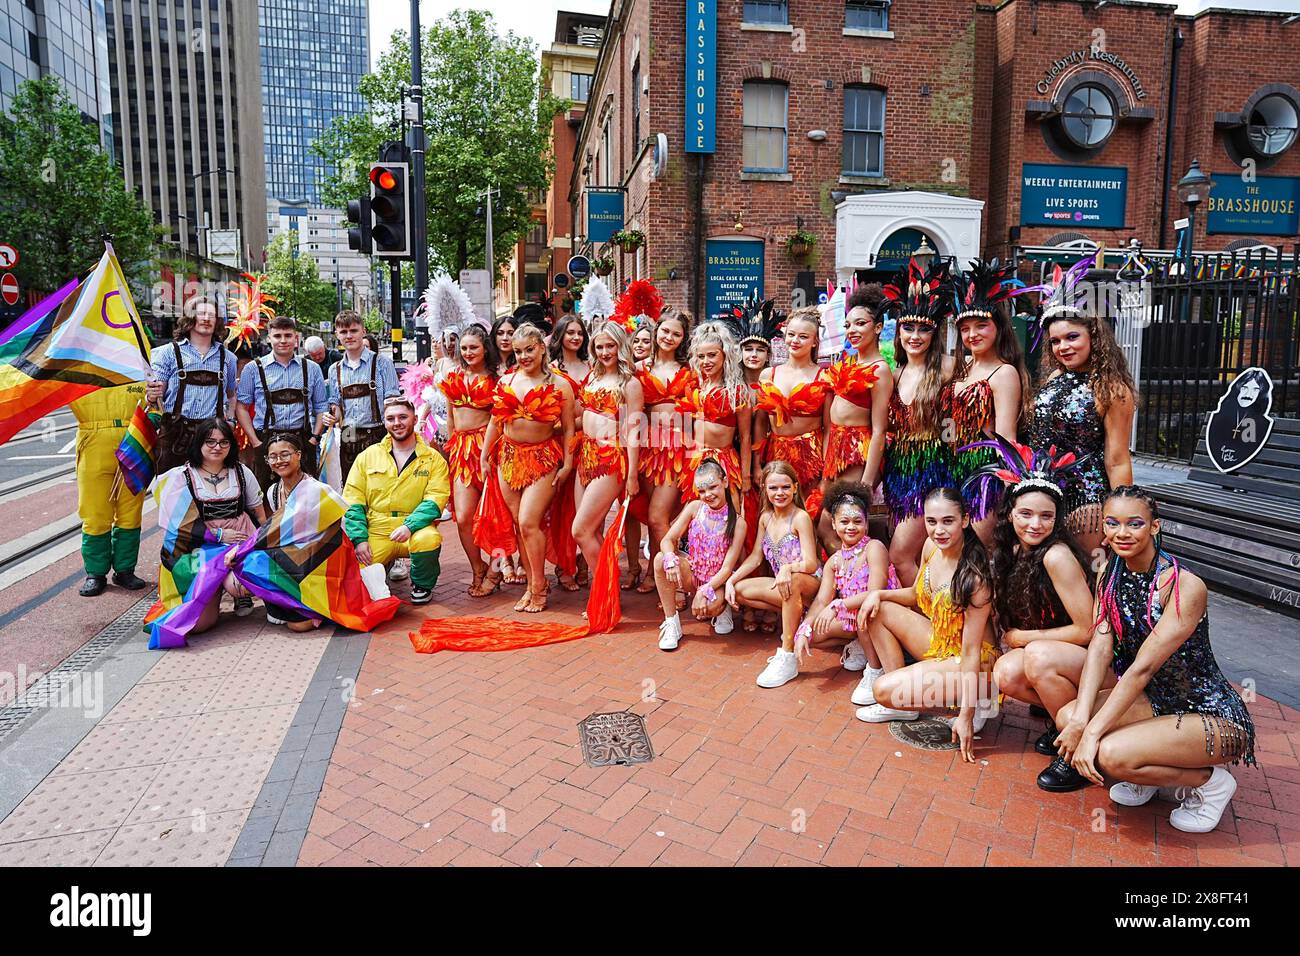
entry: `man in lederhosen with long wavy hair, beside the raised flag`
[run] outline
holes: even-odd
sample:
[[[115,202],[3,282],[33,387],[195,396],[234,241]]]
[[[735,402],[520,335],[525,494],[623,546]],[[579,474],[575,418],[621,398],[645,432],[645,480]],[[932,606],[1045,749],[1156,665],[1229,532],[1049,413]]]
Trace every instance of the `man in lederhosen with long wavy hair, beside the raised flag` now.
[[[153,350],[153,375],[144,395],[162,402],[159,425],[157,473],[183,464],[190,457],[194,429],[204,419],[234,416],[235,356],[221,342],[217,306],[200,299],[176,323],[176,341]]]

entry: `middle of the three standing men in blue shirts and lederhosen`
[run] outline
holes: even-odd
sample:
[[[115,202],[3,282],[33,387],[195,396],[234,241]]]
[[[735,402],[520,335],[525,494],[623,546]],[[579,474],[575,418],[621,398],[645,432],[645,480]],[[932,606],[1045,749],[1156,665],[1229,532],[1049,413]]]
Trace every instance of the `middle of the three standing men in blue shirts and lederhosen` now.
[[[235,415],[250,437],[252,470],[265,492],[276,476],[261,450],[276,432],[296,432],[303,438],[303,471],[316,473],[317,436],[329,411],[325,377],[306,355],[298,355],[298,325],[285,315],[270,320],[266,332],[270,355],[244,365],[239,376]],[[254,412],[248,412],[248,406]]]

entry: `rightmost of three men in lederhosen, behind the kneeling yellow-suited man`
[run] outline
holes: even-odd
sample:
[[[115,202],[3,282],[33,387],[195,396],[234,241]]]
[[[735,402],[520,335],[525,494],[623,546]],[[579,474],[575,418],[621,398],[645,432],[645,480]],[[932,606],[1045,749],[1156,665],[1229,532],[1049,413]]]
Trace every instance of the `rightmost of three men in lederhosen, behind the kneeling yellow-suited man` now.
[[[334,337],[343,346],[343,358],[330,365],[325,376],[330,402],[325,427],[339,427],[338,458],[346,485],[356,457],[387,434],[381,411],[384,399],[402,394],[402,389],[393,359],[367,346],[360,315],[351,310],[339,312],[334,319]]]

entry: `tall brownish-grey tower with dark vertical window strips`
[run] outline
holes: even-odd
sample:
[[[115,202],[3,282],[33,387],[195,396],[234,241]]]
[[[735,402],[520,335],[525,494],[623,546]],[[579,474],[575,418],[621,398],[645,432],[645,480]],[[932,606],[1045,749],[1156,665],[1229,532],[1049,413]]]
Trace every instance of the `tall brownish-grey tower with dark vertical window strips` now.
[[[103,1],[113,152],[127,187],[182,255],[260,267],[266,189],[252,4]]]

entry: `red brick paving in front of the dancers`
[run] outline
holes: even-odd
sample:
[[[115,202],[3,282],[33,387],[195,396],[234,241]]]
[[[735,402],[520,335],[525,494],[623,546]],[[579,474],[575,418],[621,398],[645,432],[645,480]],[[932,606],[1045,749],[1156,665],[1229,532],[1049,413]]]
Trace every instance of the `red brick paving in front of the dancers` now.
[[[460,549],[446,550],[428,617],[515,617],[520,588],[469,598]],[[572,622],[582,600],[555,589],[542,618]],[[1167,803],[1040,791],[1040,724],[1019,704],[975,765],[918,750],[854,718],[857,675],[832,654],[763,691],[775,636],[688,623],[660,652],[653,596],[625,593],[615,633],[507,653],[416,654],[422,617],[408,609],[370,643],[302,865],[1300,864],[1300,713],[1270,700],[1251,705],[1260,766],[1232,769],[1228,813],[1195,836]],[[655,760],[588,767],[578,721],[624,709],[646,718]]]

